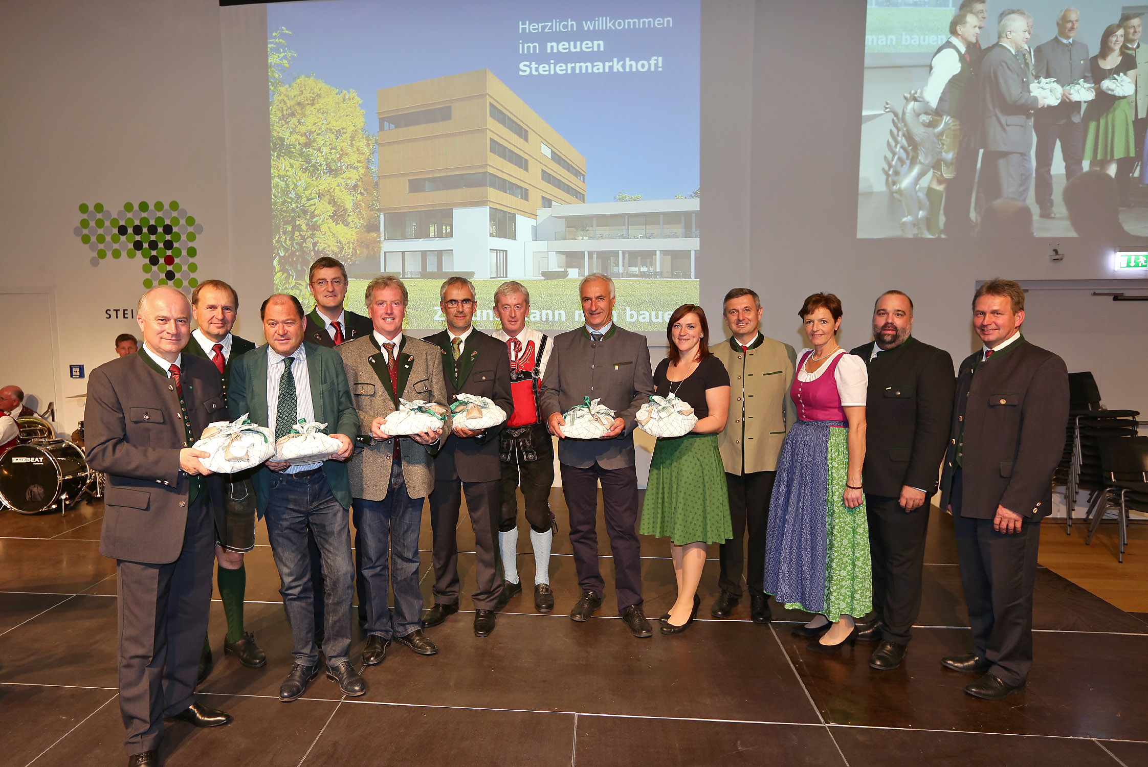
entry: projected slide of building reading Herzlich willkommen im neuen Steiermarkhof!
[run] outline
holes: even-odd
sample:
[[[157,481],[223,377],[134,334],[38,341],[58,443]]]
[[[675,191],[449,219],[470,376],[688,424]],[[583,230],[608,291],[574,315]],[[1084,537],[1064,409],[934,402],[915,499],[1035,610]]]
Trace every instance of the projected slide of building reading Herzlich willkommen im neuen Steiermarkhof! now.
[[[544,8],[544,10],[542,10]],[[528,282],[532,325],[583,321],[577,280],[615,280],[615,319],[660,331],[701,272],[698,0],[623,6],[335,0],[267,6],[277,289],[379,274],[408,325],[439,287]]]

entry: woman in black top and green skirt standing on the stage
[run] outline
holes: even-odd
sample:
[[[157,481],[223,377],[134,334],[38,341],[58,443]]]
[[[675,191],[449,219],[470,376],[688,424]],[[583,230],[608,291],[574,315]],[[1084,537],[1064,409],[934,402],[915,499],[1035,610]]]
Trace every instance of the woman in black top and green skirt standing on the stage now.
[[[698,417],[689,434],[658,440],[638,528],[643,535],[668,536],[673,543],[677,601],[661,617],[661,633],[670,635],[684,632],[698,614],[706,544],[724,543],[734,527],[718,451],[718,433],[726,428],[729,412],[729,373],[709,354],[709,325],[701,307],[678,307],[666,336],[669,354],[654,371],[654,387],[659,396],[674,394],[688,402]]]

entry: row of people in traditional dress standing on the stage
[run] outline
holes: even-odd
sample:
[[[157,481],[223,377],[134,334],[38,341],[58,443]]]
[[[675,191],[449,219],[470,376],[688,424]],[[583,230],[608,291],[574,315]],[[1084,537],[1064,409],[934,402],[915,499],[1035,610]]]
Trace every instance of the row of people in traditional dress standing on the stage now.
[[[318,259],[309,284],[309,313],[292,295],[263,302],[258,348],[231,332],[239,299],[226,282],[202,282],[191,301],[153,288],[137,311],[139,351],[92,373],[88,460],[108,474],[101,552],[118,565],[130,765],[157,764],[164,718],[196,727],[231,721],[193,697],[196,660],[201,676],[210,666],[212,559],[225,653],[245,666],[266,663],[242,618],[242,552],[254,547],[256,518],[267,527],[292,632],[284,702],[301,697],[324,668],[344,695],[364,695],[360,669],[382,663],[396,643],[439,652],[425,629],[459,610],[464,496],[475,540],[475,636],[489,636],[497,612],[522,594],[518,489],[534,606],[552,611],[552,436],[581,587],[572,620],[589,620],[605,596],[600,485],[618,612],[635,637],[653,635],[643,609],[642,533],[672,543],[677,597],[657,621],[661,634],[695,621],[706,549],[718,543],[721,592],[711,615],[734,614],[744,581],[754,623],[769,623],[771,595],[815,614],[793,629],[810,650],[879,641],[869,659],[876,669],[905,657],[944,457],[941,504],[957,527],[974,646],[943,663],[983,674],[965,688],[982,698],[1023,687],[1032,658],[1033,522],[1050,510],[1068,384],[1060,357],[1021,335],[1024,293],[1015,282],[978,289],[974,326],[985,347],[955,379],[949,355],[912,335],[913,303],[898,290],[878,297],[874,341],[852,352],[837,343],[840,301],[809,296],[799,313],[810,346],[797,354],[760,332],[758,294],[735,288],[723,303],[729,339],[712,339],[705,311],[685,304],[668,323],[667,358],[651,370],[645,338],[614,323],[614,284],[605,274],[579,286],[584,325],[554,338],[526,327],[529,292],[515,281],[495,294],[501,330],[490,335],[472,321],[474,286],[449,278],[440,290],[447,328],[426,339],[403,333],[409,295],[396,277],[366,286],[366,317],[344,309],[348,279],[338,261]],[[386,432],[400,400],[449,404],[460,394],[490,398],[506,421]],[[685,401],[697,423],[684,436],[658,439],[639,504],[635,415],[654,394]],[[613,424],[602,439],[568,439],[564,413],[591,398],[614,411]],[[313,465],[269,462],[211,474],[200,463],[207,454],[192,447],[196,435],[245,415],[277,437],[300,420],[318,421],[340,449]],[[434,571],[426,612],[418,582],[425,503]],[[359,669],[350,654],[356,588],[367,634]]]

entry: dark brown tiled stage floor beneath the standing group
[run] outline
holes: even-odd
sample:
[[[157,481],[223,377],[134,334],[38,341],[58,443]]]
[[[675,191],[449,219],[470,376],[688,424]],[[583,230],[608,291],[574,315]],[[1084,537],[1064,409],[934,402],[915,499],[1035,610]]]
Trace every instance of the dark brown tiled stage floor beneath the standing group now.
[[[559,524],[561,494],[552,496]],[[63,516],[0,512],[0,765],[123,764],[116,695],[115,564],[99,553],[101,509]],[[473,536],[460,524],[459,565],[473,583]],[[634,640],[616,618],[612,564],[599,539],[606,599],[588,623],[565,527],[551,582],[557,606],[534,612],[529,588],[484,640],[464,612],[429,629],[429,658],[393,648],[366,671],[369,694],[346,699],[320,677],[304,698],[277,699],[290,667],[279,579],[261,528],[248,555],[247,628],[262,669],[222,658],[223,610],[211,605],[216,667],[200,691],[230,727],[169,725],[166,765],[945,765],[1148,766],[1148,622],[1054,572],[1038,574],[1035,665],[1025,692],[1001,703],[965,696],[968,677],[941,654],[968,646],[952,525],[934,512],[924,604],[905,664],[878,673],[871,645],[819,656],[793,637],[800,613],[774,609],[755,626],[743,604],[708,619],[716,561],[706,565],[699,621],[684,635]],[[422,549],[429,549],[424,520]],[[533,582],[529,537],[519,567]],[[674,598],[665,541],[643,537],[646,613]],[[716,548],[711,557],[716,556]],[[422,588],[430,598],[424,552]],[[358,651],[364,637],[356,629]]]

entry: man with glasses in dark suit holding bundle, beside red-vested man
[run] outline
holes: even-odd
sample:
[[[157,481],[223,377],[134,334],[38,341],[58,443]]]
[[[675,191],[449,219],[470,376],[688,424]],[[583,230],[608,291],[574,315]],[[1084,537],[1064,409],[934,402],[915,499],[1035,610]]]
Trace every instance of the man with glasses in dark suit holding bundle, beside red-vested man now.
[[[426,338],[442,350],[447,402],[459,394],[489,397],[514,412],[506,346],[471,324],[474,317],[474,285],[465,277],[451,277],[440,289],[447,330]],[[502,425],[482,431],[456,426],[435,458],[434,490],[430,493],[430,529],[434,535],[434,606],[422,619],[437,626],[458,612],[461,591],[458,578],[458,512],[466,495],[466,510],[474,529],[474,635],[495,630],[495,611],[502,594],[498,578],[498,522],[502,518],[502,462],[498,459]]]

